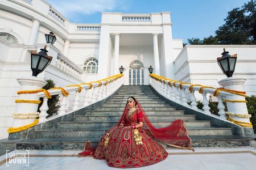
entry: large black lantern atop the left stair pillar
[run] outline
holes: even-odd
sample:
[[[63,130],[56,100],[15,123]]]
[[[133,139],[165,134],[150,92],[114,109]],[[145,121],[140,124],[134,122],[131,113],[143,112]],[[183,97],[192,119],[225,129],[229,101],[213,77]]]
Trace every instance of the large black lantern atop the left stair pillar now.
[[[32,76],[37,76],[41,73],[52,60],[52,57],[47,55],[48,51],[46,50],[46,46],[40,50],[39,53],[31,53]]]

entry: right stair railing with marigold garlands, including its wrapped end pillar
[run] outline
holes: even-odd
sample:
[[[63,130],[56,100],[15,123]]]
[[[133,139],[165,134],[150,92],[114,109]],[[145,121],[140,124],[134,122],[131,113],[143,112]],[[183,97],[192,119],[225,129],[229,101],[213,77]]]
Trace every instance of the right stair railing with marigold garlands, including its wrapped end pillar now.
[[[191,84],[179,82],[177,80],[167,79],[163,76],[150,74],[150,85],[162,96],[174,101],[184,107],[191,108],[197,112],[208,114],[209,116],[218,117],[224,121],[230,121],[236,125],[251,128],[251,114],[248,114],[245,100],[245,92],[228,90],[225,88],[214,88],[210,86],[202,86],[200,84]],[[199,92],[203,96],[203,111],[197,108],[197,99],[195,93]],[[218,114],[210,112],[209,101],[207,95],[215,96],[218,100]],[[202,98],[202,97],[201,97]],[[228,111],[225,111],[226,102]]]

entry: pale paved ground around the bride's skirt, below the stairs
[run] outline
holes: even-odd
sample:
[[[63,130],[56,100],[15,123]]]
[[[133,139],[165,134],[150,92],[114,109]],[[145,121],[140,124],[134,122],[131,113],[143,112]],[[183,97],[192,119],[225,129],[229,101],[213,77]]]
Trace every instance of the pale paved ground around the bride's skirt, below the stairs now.
[[[67,150],[30,150],[29,166],[6,161],[10,154],[0,157],[0,169],[118,169],[108,167],[105,160],[93,159],[92,156],[77,157],[80,151]],[[168,149],[168,158],[160,163],[142,168],[132,169],[255,169],[256,149],[242,148],[196,148],[195,152],[188,150]],[[16,153],[26,153],[18,151]]]

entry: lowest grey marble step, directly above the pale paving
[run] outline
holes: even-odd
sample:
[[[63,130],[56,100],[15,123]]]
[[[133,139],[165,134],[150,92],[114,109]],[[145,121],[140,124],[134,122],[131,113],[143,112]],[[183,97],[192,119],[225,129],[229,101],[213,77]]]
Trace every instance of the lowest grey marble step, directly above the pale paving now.
[[[250,146],[253,138],[237,135],[190,135],[193,147],[245,147]],[[10,145],[14,143],[16,150],[83,150],[87,137],[79,138],[34,138],[7,140],[2,139],[1,143]],[[100,138],[90,138],[91,145],[96,148]],[[164,147],[170,146],[162,144]],[[175,148],[174,148],[175,149]],[[196,150],[196,148],[195,148]]]

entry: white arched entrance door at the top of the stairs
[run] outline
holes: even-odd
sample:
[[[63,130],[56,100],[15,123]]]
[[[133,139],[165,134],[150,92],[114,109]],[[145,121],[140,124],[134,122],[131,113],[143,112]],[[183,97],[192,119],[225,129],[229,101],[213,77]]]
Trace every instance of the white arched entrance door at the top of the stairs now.
[[[131,62],[129,66],[129,85],[144,85],[144,69],[141,61]]]

